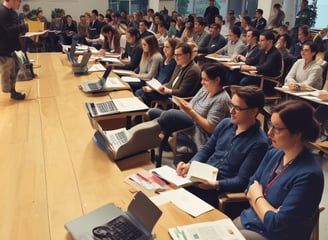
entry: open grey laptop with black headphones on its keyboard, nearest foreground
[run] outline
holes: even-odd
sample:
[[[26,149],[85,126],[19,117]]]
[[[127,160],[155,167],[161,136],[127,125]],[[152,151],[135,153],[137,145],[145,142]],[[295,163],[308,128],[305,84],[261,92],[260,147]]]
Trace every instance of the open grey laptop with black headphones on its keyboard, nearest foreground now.
[[[161,215],[161,210],[144,193],[137,192],[126,212],[110,203],[64,226],[75,240],[150,240]]]

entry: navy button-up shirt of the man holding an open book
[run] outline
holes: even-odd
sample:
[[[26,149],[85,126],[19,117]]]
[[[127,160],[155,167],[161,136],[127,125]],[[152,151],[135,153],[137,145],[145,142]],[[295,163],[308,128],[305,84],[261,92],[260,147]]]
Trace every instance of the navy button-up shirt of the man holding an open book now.
[[[258,121],[238,135],[236,129],[230,118],[223,119],[208,142],[190,160],[219,168],[220,192],[244,191],[268,148],[268,138]]]

